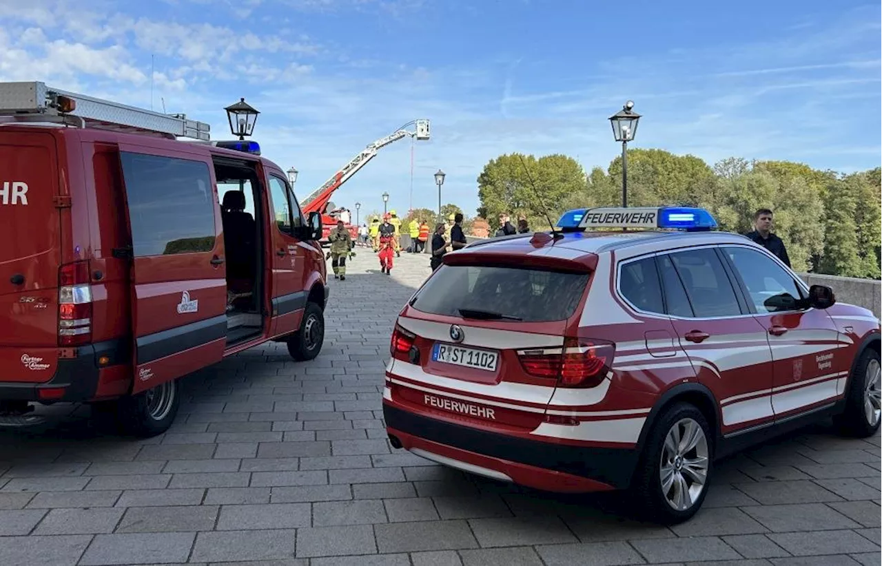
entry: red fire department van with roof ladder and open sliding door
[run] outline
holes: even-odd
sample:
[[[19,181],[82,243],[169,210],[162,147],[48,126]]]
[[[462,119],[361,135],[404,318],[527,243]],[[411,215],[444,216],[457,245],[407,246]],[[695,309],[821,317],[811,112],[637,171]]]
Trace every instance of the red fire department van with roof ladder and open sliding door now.
[[[0,426],[86,402],[153,436],[181,376],[269,340],[316,357],[321,233],[254,141],[0,83]]]

